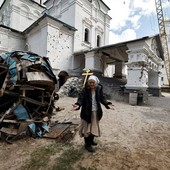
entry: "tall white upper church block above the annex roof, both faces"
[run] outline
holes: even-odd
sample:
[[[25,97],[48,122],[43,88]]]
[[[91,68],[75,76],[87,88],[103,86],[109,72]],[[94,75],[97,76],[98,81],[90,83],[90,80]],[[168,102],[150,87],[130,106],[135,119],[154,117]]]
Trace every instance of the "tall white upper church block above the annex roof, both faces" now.
[[[50,8],[53,4],[49,2],[46,5]],[[100,46],[109,43],[109,24],[111,18],[107,14],[108,9],[102,3],[100,3],[99,7],[97,0],[93,0],[92,3],[87,0],[56,1],[54,9],[50,9],[49,14],[54,15],[55,8],[60,11],[60,15],[56,16],[59,20],[77,29],[74,37],[74,52],[95,48],[97,46],[97,35],[101,37]],[[90,44],[84,43],[85,28],[88,28],[90,31]]]

